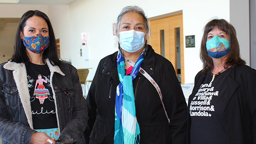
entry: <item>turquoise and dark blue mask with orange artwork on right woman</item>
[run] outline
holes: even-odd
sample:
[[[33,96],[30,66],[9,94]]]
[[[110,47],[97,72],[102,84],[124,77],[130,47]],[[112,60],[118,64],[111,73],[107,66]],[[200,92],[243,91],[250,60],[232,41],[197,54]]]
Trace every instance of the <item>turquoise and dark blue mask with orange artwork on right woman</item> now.
[[[229,52],[229,41],[218,36],[206,42],[207,53],[210,57],[219,59]]]

